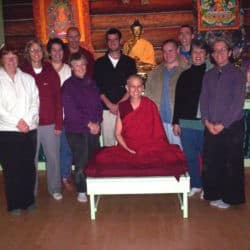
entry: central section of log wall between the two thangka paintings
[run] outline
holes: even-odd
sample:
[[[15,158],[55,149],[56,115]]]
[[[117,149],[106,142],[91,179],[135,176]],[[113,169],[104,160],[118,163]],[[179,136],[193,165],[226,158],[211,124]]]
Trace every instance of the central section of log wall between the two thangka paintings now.
[[[143,37],[155,48],[156,59],[161,61],[160,46],[169,38],[177,38],[178,29],[183,24],[193,24],[191,0],[150,0],[142,5],[140,0],[123,4],[121,1],[90,2],[92,42],[99,56],[105,51],[105,31],[110,27],[119,28],[125,42],[131,36],[130,25],[135,19],[144,26]]]

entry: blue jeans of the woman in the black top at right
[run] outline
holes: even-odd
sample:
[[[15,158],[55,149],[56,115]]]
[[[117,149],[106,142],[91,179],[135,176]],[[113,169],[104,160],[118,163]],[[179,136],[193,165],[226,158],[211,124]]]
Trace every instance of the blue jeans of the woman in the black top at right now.
[[[181,142],[186,156],[191,187],[201,188],[200,160],[203,150],[203,130],[181,128]]]

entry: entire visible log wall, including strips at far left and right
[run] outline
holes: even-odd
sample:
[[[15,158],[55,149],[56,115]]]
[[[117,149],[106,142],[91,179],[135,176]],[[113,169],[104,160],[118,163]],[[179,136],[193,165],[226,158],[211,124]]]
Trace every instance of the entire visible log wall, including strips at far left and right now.
[[[193,24],[192,0],[149,2],[148,5],[141,5],[141,0],[130,0],[129,4],[120,0],[90,1],[91,38],[96,57],[106,49],[104,34],[108,28],[119,28],[126,41],[130,37],[130,24],[138,18],[144,25],[143,36],[153,43],[159,62],[163,40],[176,38],[182,24]],[[250,1],[243,0],[242,5],[250,48]],[[3,0],[3,17],[6,43],[23,51],[26,42],[35,37],[32,0]]]

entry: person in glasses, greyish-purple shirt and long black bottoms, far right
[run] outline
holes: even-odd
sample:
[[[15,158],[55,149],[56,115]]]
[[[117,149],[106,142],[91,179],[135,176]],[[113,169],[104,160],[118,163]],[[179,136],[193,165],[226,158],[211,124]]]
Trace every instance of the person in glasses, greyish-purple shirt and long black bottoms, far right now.
[[[205,74],[201,92],[205,124],[202,181],[204,199],[211,206],[227,209],[245,202],[245,78],[230,63],[232,51],[226,40],[216,40],[212,49],[216,65]]]

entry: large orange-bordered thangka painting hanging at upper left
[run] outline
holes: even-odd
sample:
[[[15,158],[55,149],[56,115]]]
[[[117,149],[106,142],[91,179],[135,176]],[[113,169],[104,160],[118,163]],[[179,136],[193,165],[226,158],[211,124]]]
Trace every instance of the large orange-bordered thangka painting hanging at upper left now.
[[[88,0],[33,0],[36,37],[43,43],[53,37],[64,40],[73,26],[80,31],[82,45],[92,51],[88,4]]]

